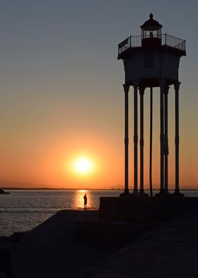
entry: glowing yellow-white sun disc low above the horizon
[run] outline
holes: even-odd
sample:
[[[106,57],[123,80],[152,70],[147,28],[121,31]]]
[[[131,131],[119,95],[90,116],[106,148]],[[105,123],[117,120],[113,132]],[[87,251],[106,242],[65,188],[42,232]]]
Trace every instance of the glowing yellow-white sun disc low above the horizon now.
[[[79,157],[74,161],[74,170],[78,174],[88,174],[93,170],[93,162],[87,157]]]

